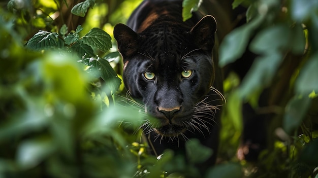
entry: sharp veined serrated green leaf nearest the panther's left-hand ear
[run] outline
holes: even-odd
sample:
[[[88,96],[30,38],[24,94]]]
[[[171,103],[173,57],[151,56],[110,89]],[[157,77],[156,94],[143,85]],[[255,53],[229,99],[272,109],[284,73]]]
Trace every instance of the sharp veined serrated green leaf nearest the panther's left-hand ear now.
[[[110,35],[100,28],[92,28],[84,37],[82,37],[81,41],[104,52],[112,47]]]

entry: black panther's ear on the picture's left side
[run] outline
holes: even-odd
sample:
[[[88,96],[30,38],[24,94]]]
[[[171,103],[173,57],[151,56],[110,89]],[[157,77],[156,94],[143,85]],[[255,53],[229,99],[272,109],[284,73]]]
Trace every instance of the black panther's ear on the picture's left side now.
[[[132,55],[138,48],[138,34],[122,23],[114,27],[114,37],[117,41],[118,51],[124,59]]]

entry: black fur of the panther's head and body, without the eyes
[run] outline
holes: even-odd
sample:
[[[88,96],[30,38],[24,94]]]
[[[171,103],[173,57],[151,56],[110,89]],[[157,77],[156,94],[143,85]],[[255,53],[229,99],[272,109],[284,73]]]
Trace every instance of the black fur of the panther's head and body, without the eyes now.
[[[222,100],[222,77],[212,60],[216,21],[194,14],[183,22],[181,4],[144,1],[129,26],[115,26],[114,37],[123,57],[124,84],[149,115],[143,128],[152,152],[184,153],[186,140],[198,138],[214,151],[200,167],[204,171],[215,163]],[[182,77],[183,71],[192,76]],[[149,80],[145,73],[155,77]]]

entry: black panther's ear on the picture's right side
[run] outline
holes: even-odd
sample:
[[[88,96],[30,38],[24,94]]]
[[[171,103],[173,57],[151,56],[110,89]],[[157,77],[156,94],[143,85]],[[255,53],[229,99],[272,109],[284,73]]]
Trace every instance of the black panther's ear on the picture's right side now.
[[[214,17],[211,15],[204,16],[190,31],[195,44],[203,50],[212,51],[216,28]]]

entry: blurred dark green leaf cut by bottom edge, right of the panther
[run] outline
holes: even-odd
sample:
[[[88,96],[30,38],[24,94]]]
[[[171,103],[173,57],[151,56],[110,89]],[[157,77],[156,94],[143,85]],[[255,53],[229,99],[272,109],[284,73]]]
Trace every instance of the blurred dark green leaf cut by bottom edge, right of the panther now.
[[[208,171],[207,177],[217,178],[241,178],[243,177],[242,167],[237,163],[227,163],[214,166]]]

